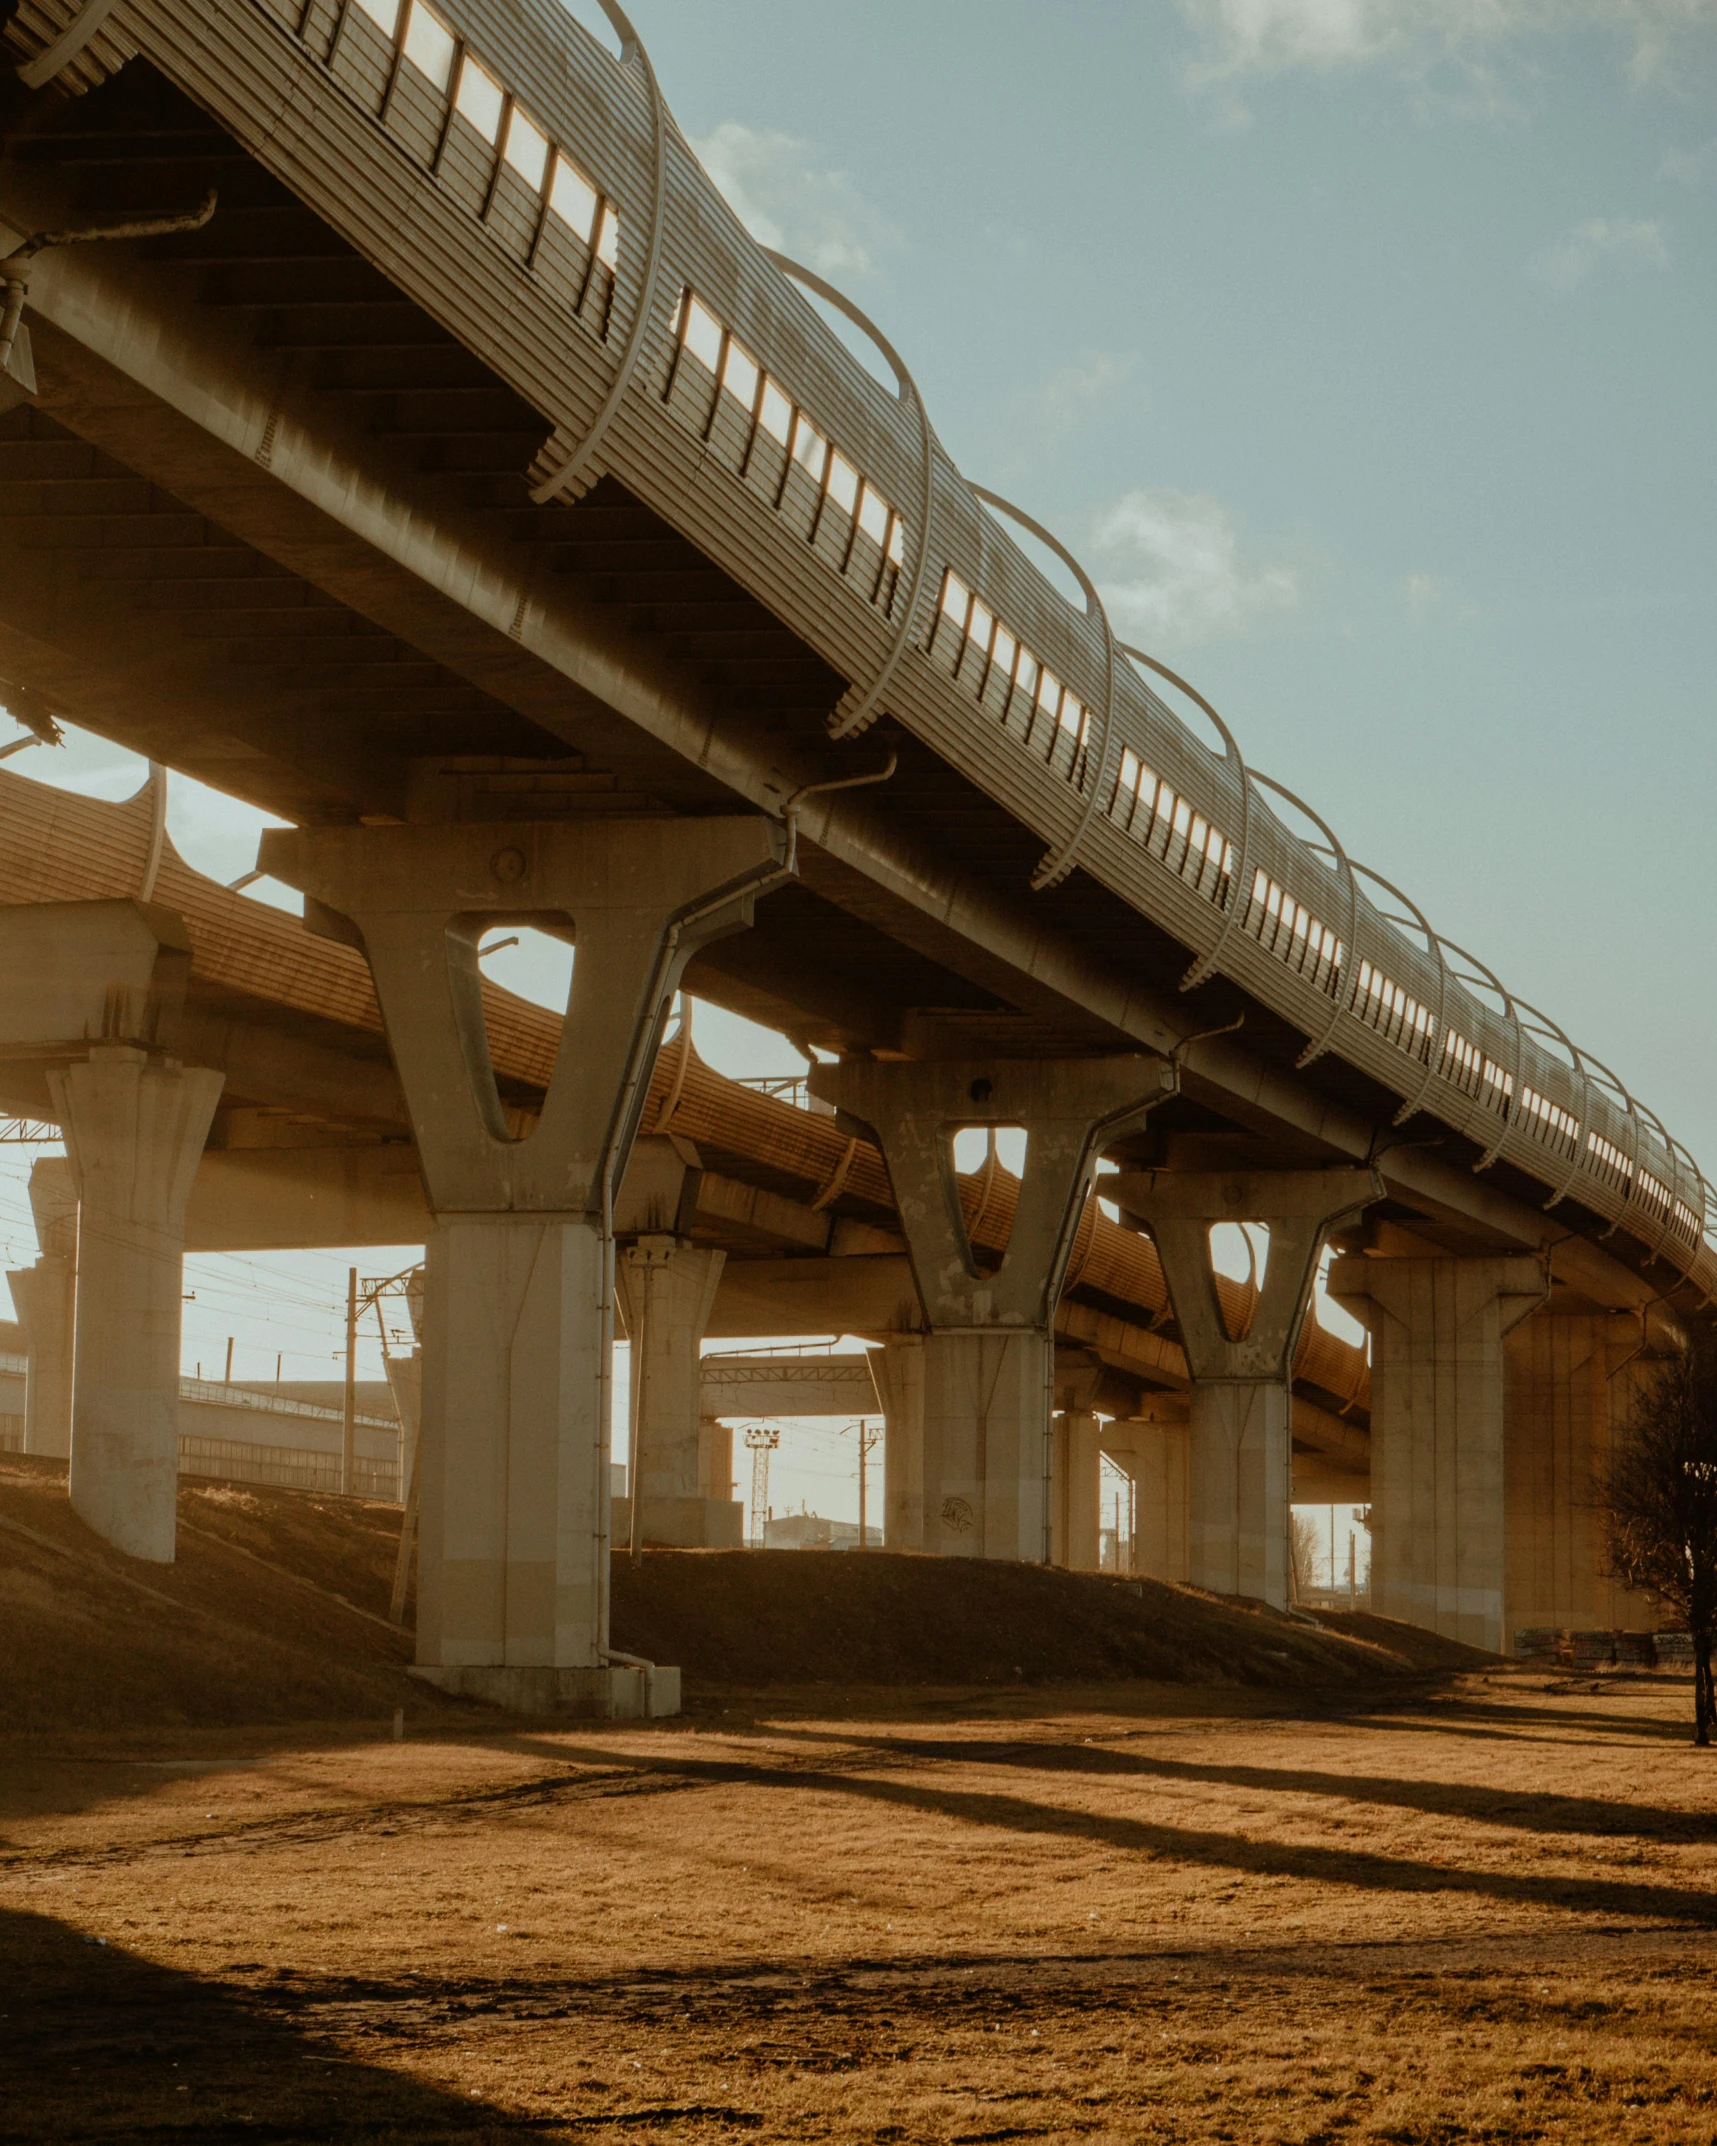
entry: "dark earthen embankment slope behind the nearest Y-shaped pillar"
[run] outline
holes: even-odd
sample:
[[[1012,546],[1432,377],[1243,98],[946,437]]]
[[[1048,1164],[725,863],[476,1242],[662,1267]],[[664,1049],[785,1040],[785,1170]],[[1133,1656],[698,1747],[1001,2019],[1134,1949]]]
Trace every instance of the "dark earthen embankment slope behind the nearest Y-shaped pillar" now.
[[[399,1506],[182,1481],[178,1558],[144,1564],[0,1455],[0,1725],[238,1728],[436,1708],[388,1622]],[[408,1594],[406,1622],[414,1601]],[[614,1644],[728,1685],[1150,1678],[1260,1689],[1419,1680],[1487,1657],[1365,1616],[1288,1618],[1155,1579],[816,1549],[614,1560]],[[461,1719],[459,1708],[440,1708]]]

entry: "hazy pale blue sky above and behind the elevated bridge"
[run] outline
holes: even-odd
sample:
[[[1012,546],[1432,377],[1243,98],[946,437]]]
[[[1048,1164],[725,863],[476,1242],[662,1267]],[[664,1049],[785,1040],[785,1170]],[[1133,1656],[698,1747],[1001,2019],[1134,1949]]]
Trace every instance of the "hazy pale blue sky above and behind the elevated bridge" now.
[[[710,174],[880,320],[962,468],[1717,1170],[1717,0],[633,15]],[[255,824],[174,790],[221,878]],[[0,1234],[30,1253],[15,1180]],[[210,1273],[187,1367],[234,1326],[240,1376],[328,1363],[346,1255],[305,1258],[290,1339],[283,1270]]]

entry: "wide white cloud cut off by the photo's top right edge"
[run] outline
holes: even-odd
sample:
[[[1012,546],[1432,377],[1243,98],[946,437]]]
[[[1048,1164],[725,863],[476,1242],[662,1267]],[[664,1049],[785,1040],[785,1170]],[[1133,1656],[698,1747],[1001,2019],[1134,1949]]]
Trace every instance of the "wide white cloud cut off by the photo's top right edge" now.
[[[1180,0],[1180,13],[1200,39],[1193,82],[1442,62],[1483,75],[1511,45],[1580,30],[1625,39],[1629,73],[1644,82],[1689,39],[1717,32],[1711,0]]]

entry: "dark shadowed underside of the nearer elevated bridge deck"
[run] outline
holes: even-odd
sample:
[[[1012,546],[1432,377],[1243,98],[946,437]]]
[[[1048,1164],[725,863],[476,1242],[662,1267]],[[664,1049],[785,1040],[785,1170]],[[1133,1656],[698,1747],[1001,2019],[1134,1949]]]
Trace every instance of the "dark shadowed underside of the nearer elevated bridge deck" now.
[[[19,230],[219,193],[200,232],[43,255],[41,395],[0,416],[0,678],[298,824],[403,818],[425,785],[459,783],[537,818],[745,811],[854,773],[824,736],[846,680],[612,479],[534,506],[545,421],[144,60],[73,101],[11,86],[0,127],[0,212]],[[266,406],[251,455],[223,444],[210,395]],[[283,423],[313,438],[343,519],[277,481]],[[388,517],[416,528],[425,564],[500,556],[556,590],[595,667],[676,721],[616,715],[483,627],[444,575],[367,541]],[[1344,1152],[1337,1122],[1389,1125],[1397,1097],[1335,1056],[1292,1073],[1305,1037],[1226,979],[1178,996],[1189,951],[1092,880],[1024,895],[1037,837],[886,721],[882,749],[899,773],[874,856],[807,843],[755,929],[700,955],[702,996],[884,1054],[1168,1047],[1243,1017],[1238,1092],[1202,1075],[1221,1054],[1195,1058],[1135,1161],[1193,1140],[1202,1159],[1316,1163]],[[522,766],[446,766],[483,760]],[[734,762],[751,794],[715,773]],[[951,886],[983,888],[987,914],[968,901],[955,923]],[[1133,1009],[1127,1026],[1080,987],[1092,979]],[[1277,1092],[1260,1094],[1260,1064]],[[1449,1197],[1474,1182],[1466,1148],[1442,1133],[1436,1185],[1399,1219],[1517,1243],[1507,1195],[1539,1206],[1543,1189],[1498,1170],[1483,1197]],[[1629,1251],[1612,1240],[1603,1266]]]

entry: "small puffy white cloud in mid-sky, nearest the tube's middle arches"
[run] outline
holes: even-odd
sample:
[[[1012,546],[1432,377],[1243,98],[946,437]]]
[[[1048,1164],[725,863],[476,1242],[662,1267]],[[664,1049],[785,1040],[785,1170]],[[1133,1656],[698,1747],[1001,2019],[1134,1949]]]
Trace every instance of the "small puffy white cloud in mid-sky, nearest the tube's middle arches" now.
[[[1292,567],[1245,556],[1228,511],[1204,491],[1125,491],[1092,532],[1097,582],[1127,640],[1204,640],[1301,601]]]

